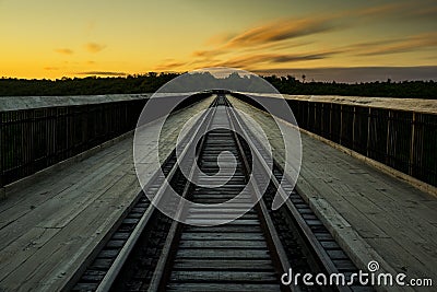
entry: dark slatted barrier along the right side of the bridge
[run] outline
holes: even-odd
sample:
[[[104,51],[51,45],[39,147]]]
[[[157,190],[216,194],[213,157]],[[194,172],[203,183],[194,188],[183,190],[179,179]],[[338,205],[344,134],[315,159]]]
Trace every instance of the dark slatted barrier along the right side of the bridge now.
[[[274,97],[234,95],[260,109],[256,101],[279,104]],[[292,97],[286,101],[298,127],[437,186],[437,113]],[[295,124],[290,117],[280,118]]]

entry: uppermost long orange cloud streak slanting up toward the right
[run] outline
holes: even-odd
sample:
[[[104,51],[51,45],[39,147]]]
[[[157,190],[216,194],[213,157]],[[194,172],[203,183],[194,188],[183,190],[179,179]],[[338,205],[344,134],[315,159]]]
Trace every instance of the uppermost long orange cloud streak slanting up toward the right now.
[[[236,50],[249,51],[281,51],[293,49],[297,46],[309,45],[307,36],[330,33],[353,25],[362,17],[387,16],[405,9],[405,3],[375,5],[357,10],[345,10],[328,15],[309,15],[300,19],[282,19],[249,27],[232,36],[229,33],[221,33],[211,37],[206,43],[215,45],[215,48],[196,50],[194,58],[211,59]],[[303,39],[296,39],[303,38]],[[293,59],[294,60],[294,59]]]

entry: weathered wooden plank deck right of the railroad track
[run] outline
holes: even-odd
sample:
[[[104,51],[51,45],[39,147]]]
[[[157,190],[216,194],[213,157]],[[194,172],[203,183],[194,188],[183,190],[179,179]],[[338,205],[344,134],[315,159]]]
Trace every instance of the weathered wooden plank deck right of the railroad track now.
[[[231,101],[259,122],[273,147],[279,145],[281,139],[271,131],[271,118],[235,98]],[[367,271],[367,262],[378,260],[387,271],[436,282],[437,198],[306,133],[300,136],[303,162],[297,189],[323,217],[355,264]]]

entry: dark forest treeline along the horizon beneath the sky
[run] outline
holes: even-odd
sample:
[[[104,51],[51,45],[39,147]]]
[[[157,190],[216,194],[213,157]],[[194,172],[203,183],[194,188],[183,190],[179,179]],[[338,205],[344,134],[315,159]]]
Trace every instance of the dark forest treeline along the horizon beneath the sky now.
[[[149,72],[128,77],[62,78],[57,80],[1,78],[0,96],[152,93],[180,75],[182,74]],[[335,81],[305,81],[305,75],[299,79],[293,75],[267,75],[262,78],[283,94],[437,98],[437,83],[433,80],[393,82],[388,79],[383,82],[338,83]],[[253,78],[241,77],[237,73],[233,73],[225,79],[214,78],[208,72],[197,73],[196,78],[190,78],[190,82],[189,87],[191,86],[192,90],[197,89],[193,83],[211,86],[211,89],[220,87],[222,84],[228,86],[228,84],[235,83],[239,84],[239,87],[243,85],[248,89],[247,91],[251,92],[264,92],[265,90],[259,89],[259,84],[253,84],[256,83]]]

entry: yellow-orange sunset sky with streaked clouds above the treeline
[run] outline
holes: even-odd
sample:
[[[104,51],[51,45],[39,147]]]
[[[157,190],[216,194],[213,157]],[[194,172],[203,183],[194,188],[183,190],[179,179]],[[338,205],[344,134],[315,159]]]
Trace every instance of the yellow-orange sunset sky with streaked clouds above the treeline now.
[[[317,79],[343,68],[391,77],[391,67],[437,77],[436,20],[435,0],[0,0],[0,75],[224,66]]]

